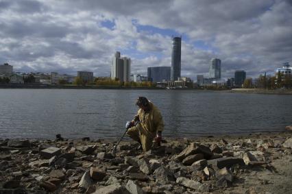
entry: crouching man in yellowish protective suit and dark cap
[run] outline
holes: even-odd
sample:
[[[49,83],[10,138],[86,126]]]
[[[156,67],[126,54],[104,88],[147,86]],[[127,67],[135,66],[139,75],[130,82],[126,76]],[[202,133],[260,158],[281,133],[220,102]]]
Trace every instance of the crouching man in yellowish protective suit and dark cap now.
[[[139,122],[127,130],[127,135],[134,141],[138,141],[140,144],[138,149],[143,148],[144,151],[148,151],[151,149],[153,140],[160,145],[165,124],[160,110],[146,97],[138,97],[136,106],[139,110],[131,121],[131,125],[134,126],[134,123]]]

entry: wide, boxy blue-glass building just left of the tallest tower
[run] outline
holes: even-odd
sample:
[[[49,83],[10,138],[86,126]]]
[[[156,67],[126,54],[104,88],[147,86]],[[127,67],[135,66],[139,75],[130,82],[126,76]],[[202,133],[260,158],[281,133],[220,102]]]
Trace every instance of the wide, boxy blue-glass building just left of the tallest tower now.
[[[168,82],[171,80],[170,66],[152,66],[147,68],[149,82]]]

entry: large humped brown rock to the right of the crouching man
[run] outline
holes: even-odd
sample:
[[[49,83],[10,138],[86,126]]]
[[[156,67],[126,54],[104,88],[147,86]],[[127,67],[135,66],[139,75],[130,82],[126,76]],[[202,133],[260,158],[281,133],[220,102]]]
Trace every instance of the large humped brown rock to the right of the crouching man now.
[[[175,156],[175,159],[182,161],[187,156],[190,156],[193,154],[204,154],[204,158],[206,159],[212,157],[213,155],[210,148],[204,145],[197,145],[195,143],[191,143],[191,145],[188,145],[188,147],[186,147],[186,149],[184,149],[180,154],[178,154],[178,156]]]

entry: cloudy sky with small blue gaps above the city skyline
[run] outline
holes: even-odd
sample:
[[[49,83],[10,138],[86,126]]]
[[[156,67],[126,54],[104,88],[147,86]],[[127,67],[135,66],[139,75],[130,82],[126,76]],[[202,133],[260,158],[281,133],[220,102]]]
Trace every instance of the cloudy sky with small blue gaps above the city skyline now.
[[[93,71],[110,76],[116,51],[131,73],[171,66],[172,36],[182,36],[181,75],[274,74],[292,65],[292,1],[280,0],[0,0],[0,64],[14,71]]]

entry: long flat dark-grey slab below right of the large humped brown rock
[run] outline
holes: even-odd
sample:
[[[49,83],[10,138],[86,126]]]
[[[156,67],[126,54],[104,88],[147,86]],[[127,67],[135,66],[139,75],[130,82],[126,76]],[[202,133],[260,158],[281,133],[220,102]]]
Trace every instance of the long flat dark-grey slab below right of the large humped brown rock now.
[[[223,167],[232,167],[232,165],[245,165],[245,162],[242,158],[234,158],[234,157],[227,157],[227,158],[219,158],[214,160],[208,160],[208,165],[212,165],[213,168],[223,169]]]

